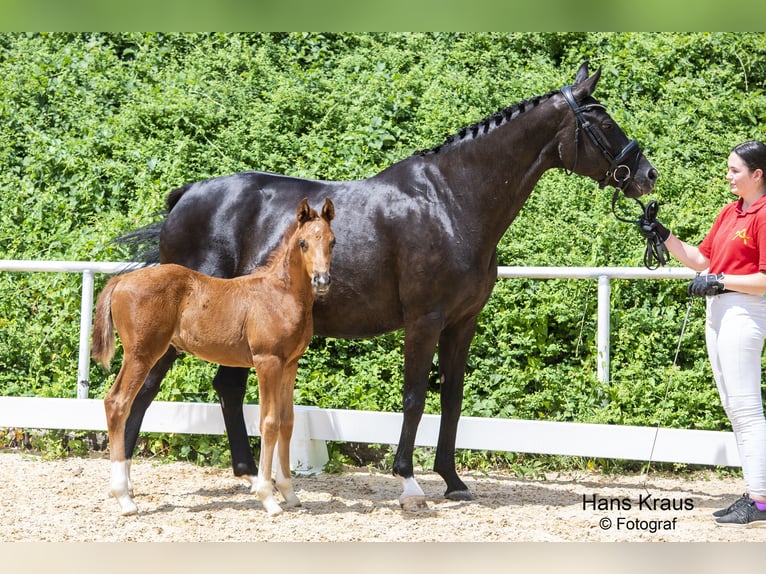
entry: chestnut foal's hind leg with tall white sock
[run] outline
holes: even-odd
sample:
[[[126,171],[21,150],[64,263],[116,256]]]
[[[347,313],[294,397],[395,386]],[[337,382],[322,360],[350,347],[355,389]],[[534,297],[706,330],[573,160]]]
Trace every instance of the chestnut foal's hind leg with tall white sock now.
[[[138,512],[131,496],[130,461],[125,456],[125,423],[133,399],[148,372],[148,366],[126,357],[112,388],[104,398],[111,461],[109,491],[117,499],[120,511],[125,516]]]

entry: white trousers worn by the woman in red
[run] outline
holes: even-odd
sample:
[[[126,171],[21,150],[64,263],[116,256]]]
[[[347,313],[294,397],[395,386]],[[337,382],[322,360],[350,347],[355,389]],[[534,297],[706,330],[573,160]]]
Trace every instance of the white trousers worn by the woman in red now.
[[[766,298],[724,293],[707,298],[705,340],[718,393],[737,440],[748,492],[766,497],[766,418],[761,353]]]

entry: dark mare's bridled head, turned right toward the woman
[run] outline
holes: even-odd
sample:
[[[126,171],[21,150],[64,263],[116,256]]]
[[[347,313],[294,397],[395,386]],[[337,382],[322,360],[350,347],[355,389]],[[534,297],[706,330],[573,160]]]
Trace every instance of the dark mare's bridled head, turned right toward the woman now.
[[[565,169],[586,175],[601,187],[611,185],[628,197],[639,197],[654,188],[658,173],[606,108],[592,96],[601,68],[588,77],[588,62],[580,66],[572,86],[561,89],[563,103],[571,114],[571,137],[559,144]],[[584,132],[584,134],[583,134]],[[616,192],[615,192],[616,193]]]

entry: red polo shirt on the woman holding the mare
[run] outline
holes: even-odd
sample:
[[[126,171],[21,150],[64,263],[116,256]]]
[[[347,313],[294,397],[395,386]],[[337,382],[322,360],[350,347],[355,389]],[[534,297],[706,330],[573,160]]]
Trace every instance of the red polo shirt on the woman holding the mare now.
[[[749,275],[766,271],[766,196],[742,211],[742,199],[726,205],[699,245],[709,273]]]

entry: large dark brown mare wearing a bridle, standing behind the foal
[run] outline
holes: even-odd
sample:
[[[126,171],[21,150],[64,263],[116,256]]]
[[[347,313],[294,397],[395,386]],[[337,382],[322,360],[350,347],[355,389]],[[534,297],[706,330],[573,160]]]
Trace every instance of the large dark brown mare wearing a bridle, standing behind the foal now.
[[[164,222],[130,238],[153,246],[162,262],[233,277],[264,261],[296,198],[332,198],[339,212],[337,280],[314,305],[315,331],[369,337],[404,329],[404,416],[393,465],[404,508],[425,505],[412,453],[438,346],[442,414],[434,469],[448,498],[470,499],[455,470],[455,437],[468,348],[497,278],[498,241],[549,169],[590,177],[629,197],[649,193],[657,179],[636,142],[593,98],[599,77],[600,70],[589,77],[586,62],[572,86],[500,110],[368,179],[244,172],[186,185],[170,193]],[[144,383],[128,420],[126,452],[174,359],[171,349]],[[234,473],[254,476],[242,414],[246,379],[246,369],[222,366],[213,385]]]

